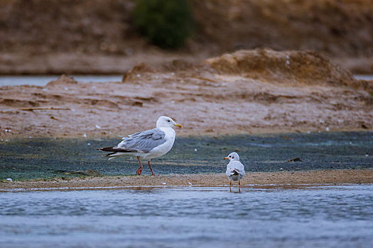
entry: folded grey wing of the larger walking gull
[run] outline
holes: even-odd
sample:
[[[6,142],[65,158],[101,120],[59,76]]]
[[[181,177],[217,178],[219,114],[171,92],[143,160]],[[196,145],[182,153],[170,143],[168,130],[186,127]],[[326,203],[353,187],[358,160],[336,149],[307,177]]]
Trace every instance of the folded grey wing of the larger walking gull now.
[[[158,147],[158,145],[166,142],[165,135],[166,133],[159,128],[134,133],[133,135],[129,135],[129,137],[123,137],[123,141],[114,147],[114,149],[149,152],[154,147]]]

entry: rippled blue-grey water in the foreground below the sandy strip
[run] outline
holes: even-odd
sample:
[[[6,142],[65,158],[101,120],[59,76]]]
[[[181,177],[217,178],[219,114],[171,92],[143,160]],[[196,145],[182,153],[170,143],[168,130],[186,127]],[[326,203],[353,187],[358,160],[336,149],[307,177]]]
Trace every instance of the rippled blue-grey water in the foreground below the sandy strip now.
[[[0,247],[372,247],[372,192],[373,185],[0,193]]]

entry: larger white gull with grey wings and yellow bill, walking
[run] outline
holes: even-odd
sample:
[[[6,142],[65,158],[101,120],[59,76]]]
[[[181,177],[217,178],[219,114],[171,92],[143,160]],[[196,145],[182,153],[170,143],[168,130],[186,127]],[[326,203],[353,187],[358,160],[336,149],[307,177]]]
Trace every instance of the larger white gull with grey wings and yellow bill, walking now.
[[[109,157],[109,159],[114,159],[122,155],[135,156],[140,164],[139,169],[136,171],[138,175],[141,175],[141,171],[143,170],[140,157],[148,159],[148,167],[154,176],[150,160],[161,157],[171,150],[175,141],[175,130],[173,130],[173,127],[182,128],[182,125],[175,123],[173,119],[167,116],[161,116],[157,120],[156,128],[123,137],[123,141],[117,146],[97,148],[97,150],[111,152],[104,155],[104,157]]]

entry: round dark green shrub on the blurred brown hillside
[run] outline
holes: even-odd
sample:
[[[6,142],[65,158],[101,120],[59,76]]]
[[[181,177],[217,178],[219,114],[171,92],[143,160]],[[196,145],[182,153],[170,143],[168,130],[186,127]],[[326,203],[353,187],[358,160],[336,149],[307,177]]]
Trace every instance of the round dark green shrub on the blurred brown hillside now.
[[[187,0],[136,0],[134,24],[154,45],[177,48],[193,29]]]

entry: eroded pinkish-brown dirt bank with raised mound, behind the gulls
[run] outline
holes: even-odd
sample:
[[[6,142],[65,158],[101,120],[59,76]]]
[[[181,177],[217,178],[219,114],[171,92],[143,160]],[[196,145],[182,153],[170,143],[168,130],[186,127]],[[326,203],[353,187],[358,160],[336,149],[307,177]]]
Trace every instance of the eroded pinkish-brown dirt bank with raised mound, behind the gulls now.
[[[178,135],[372,130],[372,81],[315,52],[241,50],[194,65],[139,64],[121,82],[0,88],[1,137],[117,136],[153,128]]]

